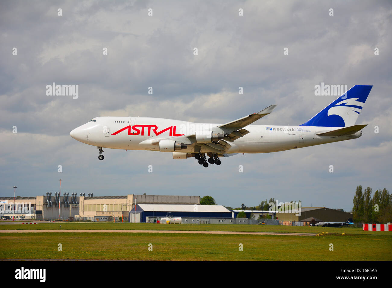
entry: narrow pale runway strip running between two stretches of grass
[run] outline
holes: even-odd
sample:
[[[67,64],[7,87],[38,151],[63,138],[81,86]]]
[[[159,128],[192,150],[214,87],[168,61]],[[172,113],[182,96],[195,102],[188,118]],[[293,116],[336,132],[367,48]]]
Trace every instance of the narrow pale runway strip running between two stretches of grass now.
[[[316,236],[316,233],[236,232],[236,231],[178,231],[178,230],[0,230],[0,233],[179,233],[179,234],[234,234]]]

